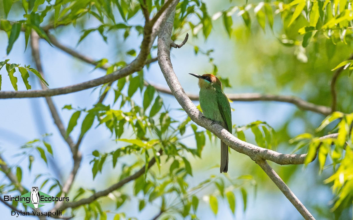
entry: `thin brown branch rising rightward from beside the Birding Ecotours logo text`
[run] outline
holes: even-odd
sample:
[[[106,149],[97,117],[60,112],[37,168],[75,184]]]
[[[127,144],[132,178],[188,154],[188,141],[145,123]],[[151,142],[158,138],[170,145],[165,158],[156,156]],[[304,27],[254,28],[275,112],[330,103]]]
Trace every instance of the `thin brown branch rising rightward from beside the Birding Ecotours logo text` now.
[[[160,149],[158,151],[158,153],[160,153],[160,155],[162,155],[163,153],[163,150]],[[153,166],[154,164],[156,163],[156,158],[155,157],[152,157],[152,159],[150,159],[150,161],[148,162],[148,166],[147,166],[147,169],[151,168],[151,166]],[[111,193],[112,191],[114,190],[117,190],[119,188],[121,188],[122,186],[124,186],[126,183],[128,182],[131,182],[133,180],[136,180],[138,177],[142,176],[146,171],[146,165],[143,166],[141,169],[139,169],[138,171],[136,171],[133,175],[131,176],[128,176],[122,180],[120,180],[119,182],[113,184],[112,186],[108,187],[107,189],[105,190],[102,190],[102,191],[98,191],[98,192],[95,192],[93,195],[91,195],[90,197],[88,198],[85,198],[85,199],[80,199],[78,201],[74,201],[74,202],[66,202],[66,203],[63,203],[60,207],[58,207],[57,209],[54,209],[54,210],[65,210],[67,208],[75,208],[75,207],[78,207],[78,206],[82,206],[82,205],[85,205],[85,204],[89,204],[93,201],[95,201],[96,199],[102,197],[102,196],[106,196],[108,195],[109,193]]]

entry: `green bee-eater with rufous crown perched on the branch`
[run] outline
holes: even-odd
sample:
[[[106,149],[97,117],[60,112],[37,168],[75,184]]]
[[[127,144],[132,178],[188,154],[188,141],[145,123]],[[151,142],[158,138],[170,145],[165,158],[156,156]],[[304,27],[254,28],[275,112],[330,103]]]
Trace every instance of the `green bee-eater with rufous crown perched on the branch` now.
[[[203,74],[202,76],[189,73],[198,78],[200,88],[199,101],[202,113],[206,118],[211,119],[227,131],[232,133],[232,114],[226,94],[223,93],[222,83],[213,74]],[[228,146],[221,141],[221,167],[220,172],[228,171]]]

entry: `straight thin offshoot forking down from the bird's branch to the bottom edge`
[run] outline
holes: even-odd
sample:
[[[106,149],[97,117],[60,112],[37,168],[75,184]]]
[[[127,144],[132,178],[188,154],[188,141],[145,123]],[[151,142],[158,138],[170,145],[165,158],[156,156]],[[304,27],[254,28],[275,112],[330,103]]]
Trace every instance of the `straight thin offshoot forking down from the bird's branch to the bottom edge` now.
[[[286,185],[281,177],[272,169],[272,167],[267,163],[267,161],[255,161],[263,171],[270,177],[270,179],[276,184],[276,186],[282,191],[282,193],[287,197],[287,199],[293,204],[293,206],[298,210],[298,212],[304,217],[305,220],[315,220],[312,214],[305,208],[303,203],[294,195],[291,189]]]

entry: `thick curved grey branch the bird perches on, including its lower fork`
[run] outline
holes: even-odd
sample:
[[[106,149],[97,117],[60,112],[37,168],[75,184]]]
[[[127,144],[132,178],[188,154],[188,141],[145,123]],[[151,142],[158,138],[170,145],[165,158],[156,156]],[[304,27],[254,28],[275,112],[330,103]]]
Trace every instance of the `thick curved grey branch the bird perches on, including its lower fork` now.
[[[270,159],[279,164],[297,164],[298,162],[304,162],[306,155],[283,155],[275,151],[271,151],[268,149],[263,149],[261,147],[255,146],[250,143],[243,142],[238,138],[235,138],[231,133],[229,133],[225,128],[217,123],[213,123],[212,120],[209,120],[204,117],[204,115],[196,108],[196,106],[192,103],[192,101],[187,97],[184,92],[184,89],[181,87],[177,76],[174,73],[172,63],[170,61],[170,44],[172,40],[170,39],[173,29],[173,21],[174,21],[175,11],[170,15],[166,24],[162,27],[160,34],[158,36],[158,63],[166,79],[172,94],[175,96],[181,107],[185,110],[185,112],[189,115],[191,120],[193,120],[196,124],[206,128],[207,130],[214,133],[217,137],[219,137],[223,142],[225,142],[232,149],[244,153],[249,156],[252,160],[256,161],[263,165],[262,161],[265,159]],[[285,162],[285,163],[284,163]],[[267,162],[266,162],[267,163]],[[268,172],[268,167],[263,165],[263,169],[265,172]],[[271,168],[272,169],[272,168]],[[274,178],[274,174],[268,173],[270,178]],[[276,177],[273,180],[276,184],[280,184],[279,179]],[[283,181],[282,181],[283,182]],[[295,207],[298,211],[303,215],[304,218],[307,217],[310,213],[307,210],[303,210],[303,207],[297,205],[298,199],[295,199],[293,195],[288,194],[289,189],[285,189],[282,184],[279,186],[281,190],[286,191],[286,196],[291,197],[290,201],[295,203]],[[287,187],[288,188],[288,187]],[[289,191],[288,191],[289,190]],[[293,193],[292,193],[293,194]],[[310,214],[311,216],[311,214]],[[313,219],[313,218],[309,218]]]

